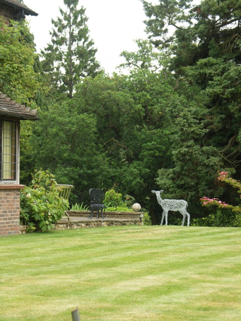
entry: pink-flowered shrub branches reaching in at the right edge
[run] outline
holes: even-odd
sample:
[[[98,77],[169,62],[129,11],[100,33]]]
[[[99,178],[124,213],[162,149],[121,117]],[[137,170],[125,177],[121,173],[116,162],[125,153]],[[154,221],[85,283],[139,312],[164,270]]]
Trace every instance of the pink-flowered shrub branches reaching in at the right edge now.
[[[228,172],[221,171],[221,172],[218,172],[218,174],[219,174],[218,180],[225,182],[225,183],[231,185],[232,187],[238,189],[237,192],[238,192],[239,197],[241,199],[241,195],[240,195],[241,194],[241,182],[239,180],[229,177]],[[220,208],[229,208],[229,209],[231,209],[232,212],[241,213],[241,206],[233,206],[233,205],[226,204],[225,202],[219,201],[218,198],[202,197],[202,198],[200,198],[200,201],[202,203],[202,206],[216,205]]]

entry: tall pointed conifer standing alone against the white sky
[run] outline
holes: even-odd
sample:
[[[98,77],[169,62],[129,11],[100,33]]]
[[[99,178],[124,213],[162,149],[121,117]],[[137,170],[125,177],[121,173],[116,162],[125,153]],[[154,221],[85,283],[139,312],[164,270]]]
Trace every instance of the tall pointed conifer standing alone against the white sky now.
[[[64,0],[67,10],[59,8],[61,17],[52,19],[51,43],[42,54],[43,67],[60,92],[73,96],[74,86],[81,78],[96,75],[100,68],[95,59],[97,49],[89,38],[85,8],[77,9],[79,0]]]

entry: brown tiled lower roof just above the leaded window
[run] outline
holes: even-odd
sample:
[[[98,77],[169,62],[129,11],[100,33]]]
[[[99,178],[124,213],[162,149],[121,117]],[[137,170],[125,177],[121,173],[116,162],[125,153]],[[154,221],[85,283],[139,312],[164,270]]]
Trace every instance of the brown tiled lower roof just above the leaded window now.
[[[38,119],[38,114],[36,109],[30,109],[25,105],[16,103],[16,101],[11,100],[6,95],[2,94],[0,91],[0,115],[1,116],[11,116],[20,119]]]

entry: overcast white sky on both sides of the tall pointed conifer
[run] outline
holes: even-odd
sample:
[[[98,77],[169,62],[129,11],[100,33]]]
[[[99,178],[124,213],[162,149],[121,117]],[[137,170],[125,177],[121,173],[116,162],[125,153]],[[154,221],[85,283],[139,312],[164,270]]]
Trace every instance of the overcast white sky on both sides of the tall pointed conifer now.
[[[150,0],[153,4],[157,0]],[[24,0],[25,5],[39,15],[27,16],[30,29],[34,35],[37,52],[50,42],[49,30],[52,28],[51,18],[61,16],[58,7],[64,9],[63,0]],[[87,25],[90,38],[98,49],[96,59],[109,74],[123,62],[119,57],[121,51],[135,51],[134,39],[146,39],[146,16],[139,0],[79,0],[79,6],[86,8],[89,18]]]

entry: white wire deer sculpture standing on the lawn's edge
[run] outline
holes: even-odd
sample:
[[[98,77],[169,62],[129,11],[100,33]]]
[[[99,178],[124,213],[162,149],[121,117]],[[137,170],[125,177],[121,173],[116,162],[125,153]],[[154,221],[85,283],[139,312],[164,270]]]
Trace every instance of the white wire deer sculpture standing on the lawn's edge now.
[[[162,199],[160,194],[163,193],[163,189],[161,189],[160,191],[154,191],[152,190],[152,193],[156,194],[156,198],[157,198],[157,202],[161,205],[162,209],[163,209],[163,213],[162,213],[162,221],[161,224],[163,224],[163,219],[165,216],[165,225],[167,225],[167,215],[168,215],[168,211],[179,211],[182,215],[183,215],[183,222],[182,222],[182,226],[184,225],[184,221],[185,218],[187,216],[187,226],[189,226],[190,224],[190,214],[187,213],[187,202],[184,200],[169,200],[169,199]]]

